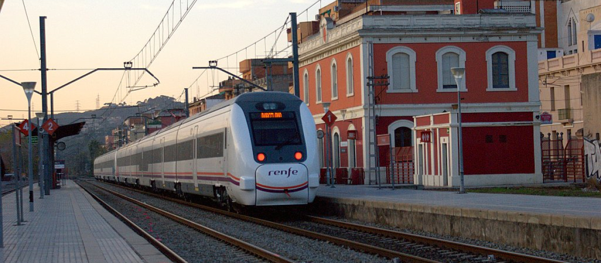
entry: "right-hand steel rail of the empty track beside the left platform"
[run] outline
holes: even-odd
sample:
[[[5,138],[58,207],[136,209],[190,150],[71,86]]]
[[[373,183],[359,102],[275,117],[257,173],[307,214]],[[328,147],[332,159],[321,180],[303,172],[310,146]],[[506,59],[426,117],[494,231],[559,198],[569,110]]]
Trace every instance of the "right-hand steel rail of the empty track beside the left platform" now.
[[[169,213],[160,208],[153,207],[151,205],[145,204],[144,202],[140,202],[136,199],[130,198],[129,196],[121,195],[120,193],[114,192],[112,190],[106,189],[102,186],[93,186],[98,187],[108,193],[112,193],[115,196],[118,196],[126,201],[132,202],[133,204],[139,205],[141,207],[147,208],[148,210],[154,211],[155,213],[161,214],[162,216],[168,217],[171,220],[174,220],[182,225],[189,226],[191,228],[197,229],[198,231],[204,232],[207,235],[211,235],[219,240],[225,241],[227,243],[232,244],[233,246],[240,247],[240,249],[246,250],[249,253],[260,256],[261,258],[267,259],[276,263],[296,263],[291,259],[285,258],[284,256],[278,255],[277,253],[270,252],[269,250],[261,249],[260,247],[254,246],[253,244],[247,243],[245,241],[239,240],[237,238],[231,237],[230,235],[223,234],[221,232],[215,231],[213,229],[207,228],[206,226],[200,225],[198,223],[192,222],[191,220],[185,219],[183,217],[177,216],[175,214]]]

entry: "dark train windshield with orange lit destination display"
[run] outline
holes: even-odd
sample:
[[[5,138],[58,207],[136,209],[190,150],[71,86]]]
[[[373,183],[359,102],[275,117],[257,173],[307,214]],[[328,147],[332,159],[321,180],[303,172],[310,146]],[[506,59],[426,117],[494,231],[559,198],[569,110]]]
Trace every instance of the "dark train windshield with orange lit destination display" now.
[[[251,128],[255,146],[302,144],[294,112],[252,112]]]

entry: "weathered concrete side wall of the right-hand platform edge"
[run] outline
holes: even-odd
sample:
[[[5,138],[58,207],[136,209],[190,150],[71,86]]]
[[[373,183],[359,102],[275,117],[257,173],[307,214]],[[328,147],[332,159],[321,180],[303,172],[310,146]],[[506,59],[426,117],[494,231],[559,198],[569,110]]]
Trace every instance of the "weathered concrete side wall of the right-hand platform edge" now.
[[[320,213],[441,235],[601,258],[601,219],[317,197]]]

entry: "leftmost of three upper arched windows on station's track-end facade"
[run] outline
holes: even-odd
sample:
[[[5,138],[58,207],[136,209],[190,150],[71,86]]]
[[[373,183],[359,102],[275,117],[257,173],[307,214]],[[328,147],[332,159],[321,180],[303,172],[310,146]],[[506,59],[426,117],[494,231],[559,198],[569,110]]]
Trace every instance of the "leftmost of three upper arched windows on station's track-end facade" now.
[[[390,76],[387,92],[417,92],[415,61],[416,53],[409,47],[393,47],[386,52]]]

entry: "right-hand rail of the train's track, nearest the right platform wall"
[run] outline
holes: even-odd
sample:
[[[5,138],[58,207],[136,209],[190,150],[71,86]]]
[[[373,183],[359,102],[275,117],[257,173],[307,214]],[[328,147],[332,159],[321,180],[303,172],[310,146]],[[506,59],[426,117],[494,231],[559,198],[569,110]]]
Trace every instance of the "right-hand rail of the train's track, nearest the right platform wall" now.
[[[538,256],[525,255],[515,252],[508,252],[499,249],[491,249],[489,247],[475,246],[471,244],[464,244],[455,241],[442,240],[440,238],[424,237],[422,235],[415,235],[410,233],[404,233],[399,231],[393,231],[382,228],[374,228],[372,226],[364,226],[355,223],[341,222],[338,220],[325,219],[316,216],[305,216],[311,222],[323,223],[326,225],[338,226],[340,228],[352,229],[355,231],[367,232],[377,235],[386,235],[394,238],[402,238],[415,243],[427,244],[429,246],[445,247],[446,249],[453,249],[460,252],[469,252],[478,255],[494,255],[496,258],[512,262],[524,262],[524,263],[568,263],[566,261],[558,261],[555,259],[541,258]]]

